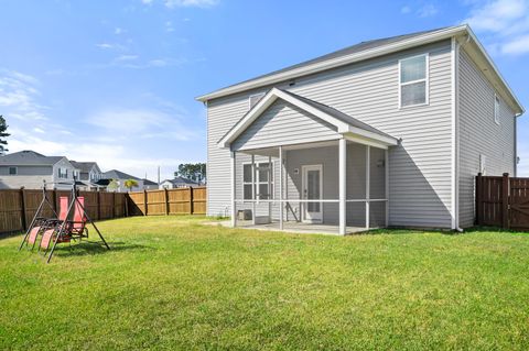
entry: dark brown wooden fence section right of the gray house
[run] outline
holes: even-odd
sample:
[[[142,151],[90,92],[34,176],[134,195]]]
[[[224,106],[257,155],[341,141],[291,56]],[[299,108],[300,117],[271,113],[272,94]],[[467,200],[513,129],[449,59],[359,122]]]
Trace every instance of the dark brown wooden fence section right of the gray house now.
[[[476,177],[476,223],[529,230],[529,178]]]

